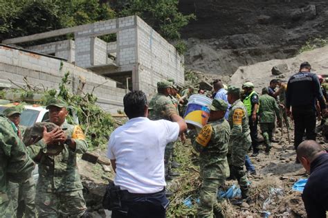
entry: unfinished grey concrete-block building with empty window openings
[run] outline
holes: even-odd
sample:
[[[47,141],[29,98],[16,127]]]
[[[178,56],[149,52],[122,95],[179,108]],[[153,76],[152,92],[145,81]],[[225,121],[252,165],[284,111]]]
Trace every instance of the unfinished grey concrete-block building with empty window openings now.
[[[19,45],[71,33],[74,40],[26,49],[61,57],[115,80],[118,88],[143,90],[148,96],[155,93],[156,83],[160,80],[174,78],[177,83],[184,83],[183,56],[137,16],[6,39],[2,43]],[[100,39],[104,35],[111,35],[113,42]]]

